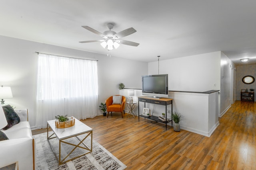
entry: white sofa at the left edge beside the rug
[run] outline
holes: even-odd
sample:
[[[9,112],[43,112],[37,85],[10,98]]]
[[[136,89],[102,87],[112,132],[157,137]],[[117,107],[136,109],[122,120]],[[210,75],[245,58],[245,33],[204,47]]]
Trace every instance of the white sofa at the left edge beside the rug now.
[[[20,123],[7,130],[1,129],[8,140],[0,141],[0,167],[18,162],[19,170],[34,170],[35,147],[28,122],[28,110],[15,109],[15,112],[20,117]]]

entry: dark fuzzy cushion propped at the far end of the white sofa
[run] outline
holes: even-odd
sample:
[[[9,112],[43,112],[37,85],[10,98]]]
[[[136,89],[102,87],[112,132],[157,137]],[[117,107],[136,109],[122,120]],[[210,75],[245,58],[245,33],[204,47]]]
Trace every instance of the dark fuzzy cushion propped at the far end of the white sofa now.
[[[6,127],[3,128],[3,130],[9,129],[13,125],[16,125],[17,123],[20,123],[20,117],[17,115],[17,113],[14,111],[12,106],[7,105],[3,106],[4,114],[7,120]]]

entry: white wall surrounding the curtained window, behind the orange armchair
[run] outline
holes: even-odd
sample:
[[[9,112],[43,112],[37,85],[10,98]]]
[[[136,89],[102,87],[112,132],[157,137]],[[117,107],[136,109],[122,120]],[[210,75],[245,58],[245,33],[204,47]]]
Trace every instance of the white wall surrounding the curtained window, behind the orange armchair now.
[[[30,126],[36,120],[37,52],[98,60],[98,102],[105,102],[113,94],[119,94],[118,84],[126,88],[141,88],[141,75],[147,74],[148,63],[96,53],[68,49],[43,43],[0,36],[0,86],[10,86],[13,98],[5,103],[16,108],[28,108]],[[130,66],[132,69],[129,69]],[[99,113],[101,110],[99,109]]]

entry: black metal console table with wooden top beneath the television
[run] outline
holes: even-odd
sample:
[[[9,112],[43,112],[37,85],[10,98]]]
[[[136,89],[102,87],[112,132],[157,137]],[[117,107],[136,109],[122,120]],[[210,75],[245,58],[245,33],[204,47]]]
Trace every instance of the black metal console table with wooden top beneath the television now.
[[[167,105],[172,105],[172,99],[169,98],[160,98],[160,99],[154,99],[154,98],[150,98],[147,96],[139,96],[138,97],[138,119],[140,121],[140,117],[144,117],[145,119],[150,119],[153,121],[157,121],[160,123],[165,123],[165,129],[167,130],[167,123],[172,122],[172,118],[171,120],[167,119]],[[158,105],[164,105],[165,106],[165,118],[166,121],[161,121],[158,119],[158,116],[145,116],[145,115],[140,115],[140,102],[144,102],[144,107],[146,107],[146,103],[151,103],[151,104],[158,104]],[[171,112],[172,113],[172,112]]]

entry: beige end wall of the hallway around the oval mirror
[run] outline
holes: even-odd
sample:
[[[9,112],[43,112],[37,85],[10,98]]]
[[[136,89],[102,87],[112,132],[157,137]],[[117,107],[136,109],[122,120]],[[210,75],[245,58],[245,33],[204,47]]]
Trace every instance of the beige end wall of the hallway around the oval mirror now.
[[[254,93],[256,92],[256,81],[254,81],[254,83],[252,84],[244,84],[242,82],[242,78],[244,76],[253,76],[254,78],[256,78],[256,64],[240,64],[236,66],[236,100],[241,100],[241,89],[247,88],[248,92],[250,92],[250,89],[252,88],[254,89]]]

